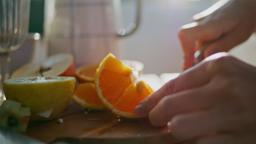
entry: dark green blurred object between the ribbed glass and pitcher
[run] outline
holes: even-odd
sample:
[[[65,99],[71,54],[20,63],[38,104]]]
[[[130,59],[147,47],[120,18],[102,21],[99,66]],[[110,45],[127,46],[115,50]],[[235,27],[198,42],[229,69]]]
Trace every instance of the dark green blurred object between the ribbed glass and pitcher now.
[[[44,25],[44,0],[30,1],[29,32],[43,34]]]

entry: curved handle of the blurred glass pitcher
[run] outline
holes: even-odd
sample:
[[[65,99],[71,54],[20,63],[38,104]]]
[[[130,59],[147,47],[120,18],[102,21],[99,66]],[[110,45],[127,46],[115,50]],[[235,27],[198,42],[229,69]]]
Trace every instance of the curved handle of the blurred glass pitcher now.
[[[129,27],[125,28],[125,29],[119,29],[117,32],[117,37],[124,37],[124,36],[128,36],[131,35],[132,33],[134,33],[139,24],[140,24],[140,17],[141,17],[141,11],[142,11],[142,0],[136,0],[137,4],[137,8],[136,8],[136,19],[135,19],[135,23],[131,23]]]

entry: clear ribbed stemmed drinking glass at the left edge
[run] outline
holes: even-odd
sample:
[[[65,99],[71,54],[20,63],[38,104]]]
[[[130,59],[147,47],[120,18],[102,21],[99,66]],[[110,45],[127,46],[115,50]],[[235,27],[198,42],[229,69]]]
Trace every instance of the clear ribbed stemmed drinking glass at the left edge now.
[[[0,0],[0,104],[5,99],[3,81],[9,78],[8,53],[28,35],[30,0]]]

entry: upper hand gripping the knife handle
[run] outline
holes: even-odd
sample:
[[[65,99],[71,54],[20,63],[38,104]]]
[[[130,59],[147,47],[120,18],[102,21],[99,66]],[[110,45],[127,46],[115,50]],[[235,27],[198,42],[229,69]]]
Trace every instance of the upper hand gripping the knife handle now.
[[[206,58],[246,41],[256,28],[255,13],[255,0],[221,0],[195,15],[193,22],[178,32],[184,53],[182,69],[193,65],[194,53],[204,42],[214,41],[203,52]]]

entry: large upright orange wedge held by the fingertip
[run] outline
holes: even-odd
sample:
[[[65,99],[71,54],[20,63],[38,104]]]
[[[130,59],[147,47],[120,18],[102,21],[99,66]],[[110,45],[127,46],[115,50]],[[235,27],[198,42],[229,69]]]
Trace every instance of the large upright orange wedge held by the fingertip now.
[[[96,71],[94,84],[99,100],[116,115],[135,118],[134,107],[153,92],[138,75],[109,53]]]

